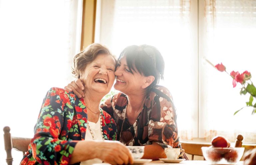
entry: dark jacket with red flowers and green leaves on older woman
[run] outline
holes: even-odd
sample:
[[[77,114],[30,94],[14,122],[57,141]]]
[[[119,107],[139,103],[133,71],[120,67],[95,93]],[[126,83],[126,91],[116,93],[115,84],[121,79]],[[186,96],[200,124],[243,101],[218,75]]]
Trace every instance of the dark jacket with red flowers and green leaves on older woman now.
[[[103,110],[101,115],[104,139],[116,140],[114,119]],[[51,88],[44,98],[35,125],[35,135],[21,165],[69,164],[78,140],[85,138],[86,126],[87,109],[84,99],[79,99],[65,89]]]

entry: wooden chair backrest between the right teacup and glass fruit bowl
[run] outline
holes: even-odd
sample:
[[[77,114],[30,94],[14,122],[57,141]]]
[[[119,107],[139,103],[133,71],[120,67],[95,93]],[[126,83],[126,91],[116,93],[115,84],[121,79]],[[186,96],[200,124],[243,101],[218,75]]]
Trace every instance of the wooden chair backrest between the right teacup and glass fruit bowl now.
[[[194,160],[194,155],[203,156],[201,147],[209,147],[211,143],[197,143],[197,142],[180,142],[182,149],[185,150],[185,153],[192,155],[192,160]]]

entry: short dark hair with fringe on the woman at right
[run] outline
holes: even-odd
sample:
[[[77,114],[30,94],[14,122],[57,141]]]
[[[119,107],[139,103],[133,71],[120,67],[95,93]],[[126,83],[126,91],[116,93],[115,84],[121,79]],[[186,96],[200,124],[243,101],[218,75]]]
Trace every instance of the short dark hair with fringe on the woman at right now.
[[[155,80],[147,88],[150,89],[157,85],[160,79],[164,79],[164,59],[161,53],[150,45],[132,45],[126,47],[118,57],[118,62],[126,57],[129,71],[137,71],[142,76],[154,76]]]

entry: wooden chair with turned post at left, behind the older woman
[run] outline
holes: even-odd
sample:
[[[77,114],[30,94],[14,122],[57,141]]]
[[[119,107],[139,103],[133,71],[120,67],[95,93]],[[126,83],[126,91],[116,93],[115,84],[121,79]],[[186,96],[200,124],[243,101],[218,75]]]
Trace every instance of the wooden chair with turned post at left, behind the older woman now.
[[[12,137],[10,133],[10,127],[5,126],[4,129],[4,148],[6,151],[6,163],[12,165],[12,148],[22,151],[23,155],[28,151],[28,145],[31,138]]]

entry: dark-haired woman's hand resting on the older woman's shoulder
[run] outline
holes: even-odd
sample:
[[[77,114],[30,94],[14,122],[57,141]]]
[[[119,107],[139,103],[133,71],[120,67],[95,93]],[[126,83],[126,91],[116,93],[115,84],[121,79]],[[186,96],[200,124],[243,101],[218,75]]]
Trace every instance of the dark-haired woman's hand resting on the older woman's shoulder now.
[[[80,79],[72,81],[67,86],[64,87],[69,91],[73,91],[79,98],[84,97],[84,83]]]

